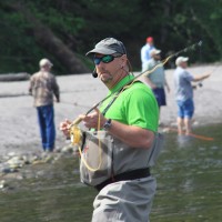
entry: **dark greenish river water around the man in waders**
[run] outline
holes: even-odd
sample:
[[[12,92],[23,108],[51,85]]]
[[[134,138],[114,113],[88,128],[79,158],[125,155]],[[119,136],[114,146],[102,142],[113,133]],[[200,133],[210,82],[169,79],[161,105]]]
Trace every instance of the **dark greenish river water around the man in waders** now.
[[[151,221],[222,221],[222,124],[195,129],[199,135],[165,133],[165,148],[152,173],[158,180]],[[78,157],[28,165],[26,179],[0,191],[0,222],[89,222],[97,191],[79,182]]]

